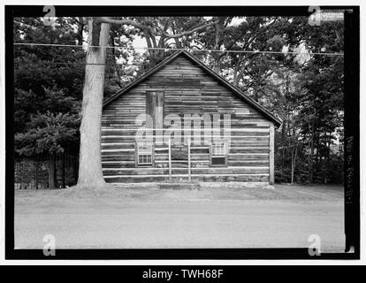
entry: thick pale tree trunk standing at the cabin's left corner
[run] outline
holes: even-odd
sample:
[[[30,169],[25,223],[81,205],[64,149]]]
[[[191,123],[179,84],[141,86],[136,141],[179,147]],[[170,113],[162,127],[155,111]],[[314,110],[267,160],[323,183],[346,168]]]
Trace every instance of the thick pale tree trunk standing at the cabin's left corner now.
[[[94,22],[93,22],[94,21]],[[110,25],[89,19],[88,44],[105,47]],[[98,38],[99,37],[99,38]],[[105,184],[101,158],[101,118],[106,48],[89,47],[83,89],[80,125],[80,164],[77,186],[95,187]]]

